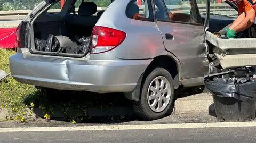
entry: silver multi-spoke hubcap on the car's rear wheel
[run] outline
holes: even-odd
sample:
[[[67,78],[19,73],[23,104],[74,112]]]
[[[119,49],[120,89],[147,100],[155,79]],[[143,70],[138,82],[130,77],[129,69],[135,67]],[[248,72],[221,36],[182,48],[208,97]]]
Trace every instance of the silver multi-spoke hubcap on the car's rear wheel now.
[[[171,99],[169,81],[162,76],[153,79],[148,87],[148,105],[154,112],[165,110]]]

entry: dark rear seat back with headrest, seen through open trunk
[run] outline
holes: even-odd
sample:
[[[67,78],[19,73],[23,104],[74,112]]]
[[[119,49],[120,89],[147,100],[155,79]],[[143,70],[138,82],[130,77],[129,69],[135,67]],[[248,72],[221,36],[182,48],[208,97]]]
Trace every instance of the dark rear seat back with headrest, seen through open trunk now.
[[[93,2],[82,2],[78,9],[78,15],[68,14],[66,23],[76,26],[94,26],[99,17],[94,16],[97,12],[97,5]]]

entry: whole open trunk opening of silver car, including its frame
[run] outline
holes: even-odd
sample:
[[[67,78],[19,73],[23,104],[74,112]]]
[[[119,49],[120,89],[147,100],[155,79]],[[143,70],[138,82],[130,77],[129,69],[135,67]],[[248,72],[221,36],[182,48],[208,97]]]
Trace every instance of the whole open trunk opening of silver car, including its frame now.
[[[104,11],[96,13],[97,6],[94,3],[82,2],[75,13],[70,9],[75,1],[66,1],[61,12],[51,12],[49,8],[57,2],[45,3],[43,10],[31,20],[30,52],[84,57],[90,50],[92,30]]]

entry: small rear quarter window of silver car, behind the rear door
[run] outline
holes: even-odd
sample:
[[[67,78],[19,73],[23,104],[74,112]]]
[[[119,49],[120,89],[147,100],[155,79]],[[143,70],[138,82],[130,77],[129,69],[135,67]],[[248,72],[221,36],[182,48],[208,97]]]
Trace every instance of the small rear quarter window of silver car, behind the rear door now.
[[[131,0],[126,7],[126,15],[131,19],[153,21],[151,0],[143,0],[141,3],[138,3],[137,0]]]

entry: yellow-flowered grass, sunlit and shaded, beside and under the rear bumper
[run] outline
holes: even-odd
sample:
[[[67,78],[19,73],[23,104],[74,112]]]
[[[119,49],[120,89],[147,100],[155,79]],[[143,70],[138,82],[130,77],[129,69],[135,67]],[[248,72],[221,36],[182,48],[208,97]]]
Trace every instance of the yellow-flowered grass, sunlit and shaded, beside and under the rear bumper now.
[[[14,54],[15,51],[0,49],[0,70],[10,74],[9,57]],[[104,108],[125,104],[126,99],[119,94],[112,96],[91,92],[39,90],[34,86],[15,81],[11,75],[0,82],[0,108],[10,109],[11,112],[7,117],[9,121],[26,122],[30,119],[34,108],[39,107],[44,114],[42,117],[46,120],[50,120],[57,110],[63,115],[59,120],[74,124],[90,119],[90,116],[87,115],[88,107]],[[109,116],[109,118],[113,119],[113,116]]]

